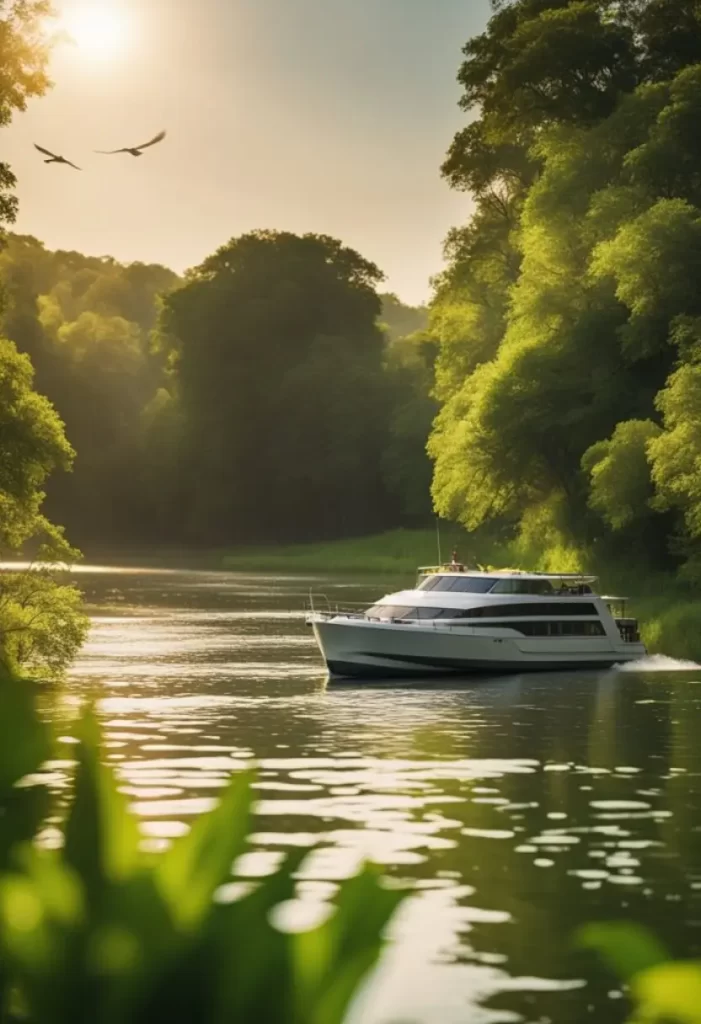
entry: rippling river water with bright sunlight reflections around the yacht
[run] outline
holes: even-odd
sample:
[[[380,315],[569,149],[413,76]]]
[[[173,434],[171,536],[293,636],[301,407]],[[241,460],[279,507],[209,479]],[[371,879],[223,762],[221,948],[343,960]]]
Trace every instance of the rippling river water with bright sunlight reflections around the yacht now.
[[[621,1021],[573,936],[623,918],[701,953],[701,669],[328,686],[310,588],[406,582],[86,567],[68,705],[97,702],[146,845],[255,761],[237,877],[308,847],[310,921],[363,859],[410,890],[353,1024]]]

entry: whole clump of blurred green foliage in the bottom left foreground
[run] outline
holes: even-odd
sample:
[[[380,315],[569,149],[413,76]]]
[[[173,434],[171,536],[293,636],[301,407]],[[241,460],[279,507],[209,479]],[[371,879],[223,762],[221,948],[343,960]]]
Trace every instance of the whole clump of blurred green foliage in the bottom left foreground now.
[[[0,730],[13,725],[21,752],[0,776],[4,801],[26,792],[12,783],[46,754],[28,692],[0,684],[0,708],[13,711]],[[81,732],[62,848],[40,849],[17,828],[0,873],[3,1001],[11,996],[33,1024],[342,1021],[401,896],[368,868],[341,888],[324,923],[281,931],[274,916],[295,895],[299,856],[233,902],[222,889],[246,847],[250,774],[169,851],[147,854],[100,763],[94,721]]]

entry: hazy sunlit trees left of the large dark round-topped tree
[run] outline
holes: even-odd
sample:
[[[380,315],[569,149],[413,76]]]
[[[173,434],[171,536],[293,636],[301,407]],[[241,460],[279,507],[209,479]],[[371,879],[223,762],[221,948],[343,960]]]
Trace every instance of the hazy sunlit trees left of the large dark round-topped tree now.
[[[82,544],[173,540],[151,485],[158,478],[163,487],[163,469],[145,443],[145,422],[156,396],[173,387],[154,330],[160,295],[178,278],[9,236],[0,280],[5,331],[31,356],[37,386],[77,452],[74,472],[49,483],[50,514]],[[165,506],[172,488],[162,493]]]

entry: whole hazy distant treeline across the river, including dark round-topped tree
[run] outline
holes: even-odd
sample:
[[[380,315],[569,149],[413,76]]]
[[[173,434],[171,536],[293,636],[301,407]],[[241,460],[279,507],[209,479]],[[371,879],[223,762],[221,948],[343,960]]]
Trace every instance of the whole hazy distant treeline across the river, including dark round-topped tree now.
[[[76,451],[81,545],[348,537],[431,515],[427,311],[334,239],[256,232],[180,280],[9,236],[4,334]]]

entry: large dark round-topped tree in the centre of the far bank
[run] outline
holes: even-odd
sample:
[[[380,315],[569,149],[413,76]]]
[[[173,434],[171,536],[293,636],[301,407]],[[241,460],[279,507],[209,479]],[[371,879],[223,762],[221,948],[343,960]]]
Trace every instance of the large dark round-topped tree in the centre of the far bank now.
[[[390,521],[375,264],[325,236],[233,239],[171,293],[185,536],[348,536]]]

